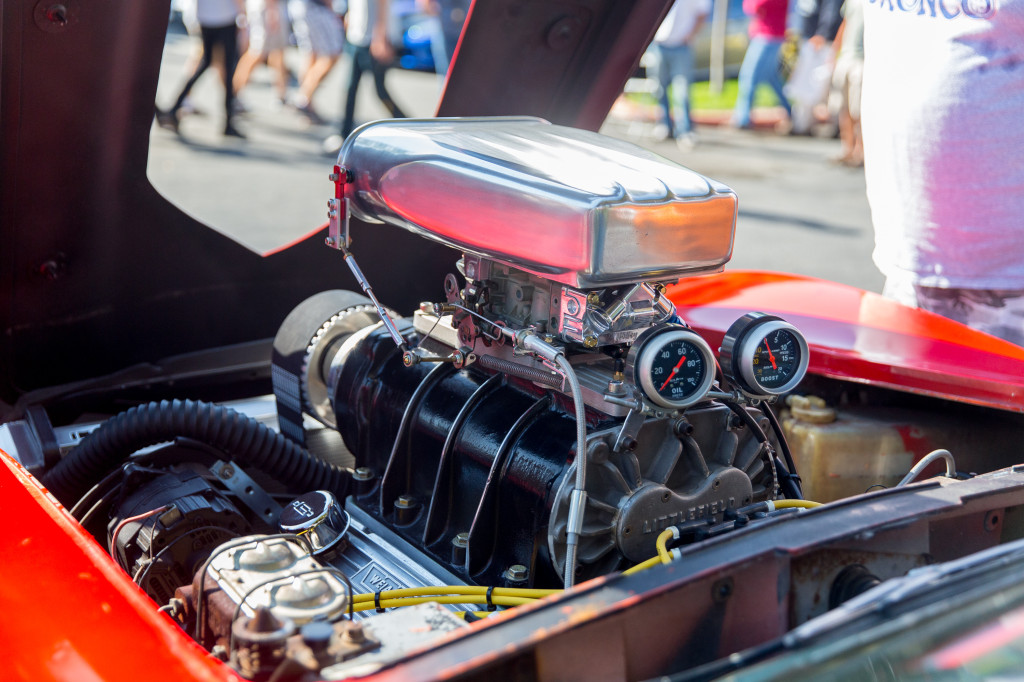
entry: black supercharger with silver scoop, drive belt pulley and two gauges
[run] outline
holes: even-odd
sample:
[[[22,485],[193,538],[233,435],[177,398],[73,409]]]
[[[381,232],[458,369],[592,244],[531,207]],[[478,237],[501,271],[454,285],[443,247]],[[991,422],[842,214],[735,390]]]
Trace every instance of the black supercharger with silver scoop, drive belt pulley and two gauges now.
[[[349,506],[469,583],[550,587],[776,497],[762,408],[800,381],[806,342],[752,313],[719,368],[665,294],[729,260],[728,187],[532,118],[369,124],[332,177],[328,244],[367,297],[299,305],[273,381],[283,433],[341,434]],[[397,318],[355,264],[349,215],[452,247],[458,273]]]

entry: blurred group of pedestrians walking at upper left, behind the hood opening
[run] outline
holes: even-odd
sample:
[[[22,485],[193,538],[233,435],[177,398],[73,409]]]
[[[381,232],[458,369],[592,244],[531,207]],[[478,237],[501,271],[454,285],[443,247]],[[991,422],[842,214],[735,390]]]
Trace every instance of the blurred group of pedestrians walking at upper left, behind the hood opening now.
[[[325,120],[313,108],[313,96],[325,78],[347,56],[349,67],[344,115],[338,133],[324,141],[336,152],[355,127],[355,96],[364,75],[370,75],[381,103],[394,118],[404,116],[386,85],[387,69],[402,42],[403,23],[415,20],[426,62],[443,76],[447,71],[470,0],[415,0],[395,8],[389,0],[179,0],[175,7],[196,51],[182,74],[182,86],[170,105],[157,104],[161,127],[180,133],[181,120],[195,110],[189,93],[212,70],[219,76],[223,98],[223,134],[245,139],[238,124],[246,111],[242,93],[257,68],[272,73],[281,105],[294,110],[309,123]],[[398,43],[398,45],[396,45]],[[293,73],[285,51],[295,49],[302,66]],[[424,56],[420,55],[423,67]]]

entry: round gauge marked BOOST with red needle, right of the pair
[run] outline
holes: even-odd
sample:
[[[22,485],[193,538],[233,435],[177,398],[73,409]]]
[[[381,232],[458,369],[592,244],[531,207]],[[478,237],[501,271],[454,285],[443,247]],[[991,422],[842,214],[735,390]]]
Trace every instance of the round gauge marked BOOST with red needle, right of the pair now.
[[[807,341],[781,317],[751,312],[725,333],[720,353],[722,372],[740,389],[755,395],[792,391],[807,374]]]

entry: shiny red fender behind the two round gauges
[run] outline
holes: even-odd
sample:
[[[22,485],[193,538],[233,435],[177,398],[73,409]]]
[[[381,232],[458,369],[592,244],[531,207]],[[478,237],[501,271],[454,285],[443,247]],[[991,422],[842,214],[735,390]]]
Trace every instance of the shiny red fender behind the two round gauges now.
[[[730,271],[669,287],[713,346],[752,310],[797,326],[812,374],[1024,412],[1024,348],[879,294],[813,278]]]

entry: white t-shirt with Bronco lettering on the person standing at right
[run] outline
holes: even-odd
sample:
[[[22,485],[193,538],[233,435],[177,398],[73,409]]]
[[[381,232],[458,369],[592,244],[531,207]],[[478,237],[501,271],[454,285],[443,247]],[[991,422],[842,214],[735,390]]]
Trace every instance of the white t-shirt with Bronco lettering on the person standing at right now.
[[[1024,0],[865,0],[874,262],[928,287],[1024,289]]]

